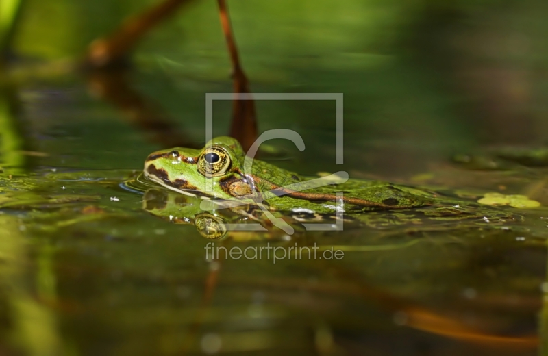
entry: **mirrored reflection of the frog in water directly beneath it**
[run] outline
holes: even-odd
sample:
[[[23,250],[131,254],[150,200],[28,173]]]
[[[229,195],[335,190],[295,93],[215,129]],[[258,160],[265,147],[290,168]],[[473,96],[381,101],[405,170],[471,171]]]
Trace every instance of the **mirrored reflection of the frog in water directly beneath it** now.
[[[284,233],[271,225],[261,210],[252,205],[245,209],[219,209],[204,212],[202,199],[197,196],[177,194],[164,188],[149,188],[144,196],[142,207],[147,212],[176,224],[194,225],[203,238],[221,240],[231,237],[234,240],[282,238]],[[462,203],[462,201],[461,201]],[[275,212],[295,227],[297,233],[304,231],[301,223],[336,223],[336,216],[312,214],[306,209],[293,212]],[[486,228],[521,220],[521,216],[485,206],[429,206],[418,209],[374,211],[366,214],[344,216],[345,229],[371,228],[387,233],[405,233],[417,230],[452,230],[469,227]],[[231,231],[228,225],[260,223],[264,231]]]

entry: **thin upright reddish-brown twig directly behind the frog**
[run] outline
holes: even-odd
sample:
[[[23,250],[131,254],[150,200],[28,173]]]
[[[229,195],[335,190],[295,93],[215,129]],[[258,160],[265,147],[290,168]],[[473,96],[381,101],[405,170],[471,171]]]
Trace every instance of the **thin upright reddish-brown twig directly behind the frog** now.
[[[249,94],[249,81],[245,76],[236,41],[232,34],[230,18],[228,14],[227,3],[225,0],[217,0],[219,3],[219,16],[221,17],[221,26],[227,41],[227,47],[230,54],[230,62],[232,62],[232,79],[234,80],[234,92],[238,94]],[[257,138],[257,116],[255,111],[255,101],[253,100],[237,100],[232,103],[232,125],[230,126],[230,136],[236,138],[245,151],[251,147]]]

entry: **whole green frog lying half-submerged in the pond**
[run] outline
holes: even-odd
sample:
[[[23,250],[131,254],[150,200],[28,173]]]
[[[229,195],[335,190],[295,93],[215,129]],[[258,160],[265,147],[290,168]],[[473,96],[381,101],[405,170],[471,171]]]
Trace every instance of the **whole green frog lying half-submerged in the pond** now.
[[[238,141],[221,136],[207,142],[203,149],[175,147],[153,152],[145,160],[142,175],[166,190],[198,197],[203,211],[221,212],[221,203],[203,204],[220,200],[232,202],[227,205],[231,209],[260,205],[277,218],[301,223],[334,222],[340,211],[345,219],[379,229],[416,226],[426,220],[444,226],[455,221],[462,225],[464,220],[471,225],[521,220],[519,214],[508,209],[477,203],[482,196],[442,195],[424,187],[338,175],[319,185],[314,177],[262,160],[253,160],[251,169],[247,167],[246,154]],[[240,212],[249,216],[249,212]]]

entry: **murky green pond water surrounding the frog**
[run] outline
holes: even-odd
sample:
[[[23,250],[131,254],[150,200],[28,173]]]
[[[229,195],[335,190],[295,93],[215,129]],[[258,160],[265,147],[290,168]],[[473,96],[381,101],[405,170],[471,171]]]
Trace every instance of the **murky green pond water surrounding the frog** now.
[[[215,4],[151,32],[131,68],[64,66],[151,2],[112,3],[25,5],[0,93],[0,354],[548,355],[545,3],[231,2],[252,92],[344,97],[342,166],[334,101],[256,101],[261,132],[306,144],[269,141],[268,162],[540,207],[221,240],[154,210],[177,193],[135,183],[149,153],[203,147],[206,93],[232,92]],[[214,136],[231,105],[214,103]],[[321,253],[206,255],[267,245]]]

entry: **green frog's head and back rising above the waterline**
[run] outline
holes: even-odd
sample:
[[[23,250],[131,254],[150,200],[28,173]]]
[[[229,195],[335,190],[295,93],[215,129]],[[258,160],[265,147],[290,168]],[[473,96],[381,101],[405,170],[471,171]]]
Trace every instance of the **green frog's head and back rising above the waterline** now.
[[[343,192],[343,204],[349,212],[408,209],[430,205],[434,198],[424,190],[382,181],[332,181],[310,188],[310,180],[260,160],[253,160],[251,172],[247,173],[244,162],[240,144],[234,138],[219,137],[203,150],[175,148],[152,153],[144,173],[182,194],[264,201],[271,210],[332,212],[336,210],[336,192]]]

